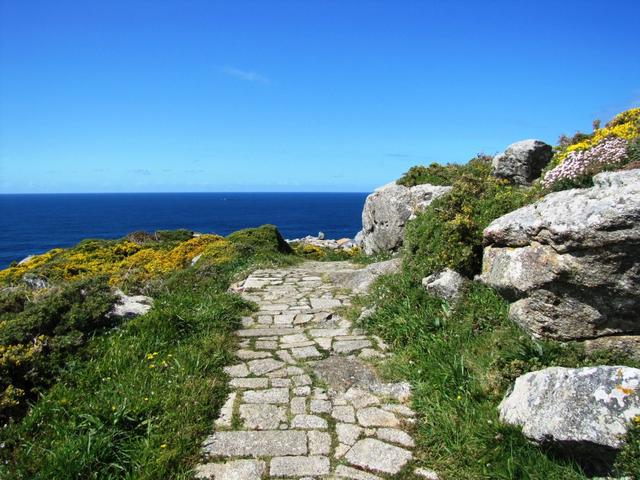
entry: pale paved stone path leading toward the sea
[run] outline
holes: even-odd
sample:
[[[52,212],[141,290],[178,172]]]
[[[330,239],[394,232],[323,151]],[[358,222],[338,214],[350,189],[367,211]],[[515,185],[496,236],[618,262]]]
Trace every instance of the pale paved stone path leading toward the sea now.
[[[369,361],[386,346],[336,313],[356,268],[307,262],[235,287],[259,311],[237,332],[232,392],[198,478],[388,479],[412,459],[409,384],[382,383]]]

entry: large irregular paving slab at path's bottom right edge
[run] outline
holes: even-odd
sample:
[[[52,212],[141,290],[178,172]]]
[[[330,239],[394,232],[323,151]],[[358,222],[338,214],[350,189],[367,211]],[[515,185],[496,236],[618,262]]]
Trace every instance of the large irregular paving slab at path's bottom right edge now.
[[[365,438],[358,441],[345,458],[352,465],[376,472],[396,474],[411,460],[409,450],[396,447],[380,440]]]

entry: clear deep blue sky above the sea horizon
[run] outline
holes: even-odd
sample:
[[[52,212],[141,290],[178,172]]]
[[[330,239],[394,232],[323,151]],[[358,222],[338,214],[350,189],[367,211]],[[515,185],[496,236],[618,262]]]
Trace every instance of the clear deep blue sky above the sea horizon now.
[[[0,192],[369,191],[640,104],[640,2],[0,0]]]

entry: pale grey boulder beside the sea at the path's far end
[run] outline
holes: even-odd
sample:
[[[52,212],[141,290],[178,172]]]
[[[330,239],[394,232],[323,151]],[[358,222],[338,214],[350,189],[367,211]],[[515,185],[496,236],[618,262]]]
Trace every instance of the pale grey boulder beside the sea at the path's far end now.
[[[451,187],[416,185],[405,187],[389,183],[367,197],[362,211],[362,242],[365,253],[395,252],[402,246],[404,228],[409,219]]]

